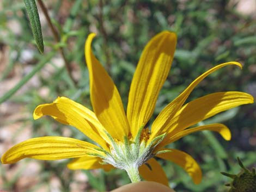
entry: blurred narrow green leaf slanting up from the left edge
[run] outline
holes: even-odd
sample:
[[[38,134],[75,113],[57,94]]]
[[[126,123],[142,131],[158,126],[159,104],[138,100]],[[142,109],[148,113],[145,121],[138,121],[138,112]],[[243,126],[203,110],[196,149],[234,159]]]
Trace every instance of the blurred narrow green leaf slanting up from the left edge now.
[[[36,72],[38,72],[40,69],[42,69],[42,67],[53,57],[54,54],[55,54],[55,52],[48,53],[40,61],[40,63],[36,64],[34,69],[30,73],[28,73],[28,75],[23,77],[23,79],[21,79],[21,81],[14,86],[13,89],[10,89],[2,97],[0,97],[0,104],[3,103],[4,101],[8,100],[8,98],[10,98],[12,95],[14,95],[17,90],[19,90],[25,83],[27,83],[28,80],[31,79],[35,75]]]

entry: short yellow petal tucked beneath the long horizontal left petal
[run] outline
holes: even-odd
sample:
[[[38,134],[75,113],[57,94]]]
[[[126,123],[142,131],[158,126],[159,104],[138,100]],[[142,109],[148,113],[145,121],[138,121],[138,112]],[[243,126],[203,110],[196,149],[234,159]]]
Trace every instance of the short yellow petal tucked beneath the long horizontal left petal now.
[[[100,157],[92,157],[92,156],[76,158],[68,164],[68,168],[73,170],[104,169],[105,171],[114,169],[112,165],[102,164],[102,159]]]

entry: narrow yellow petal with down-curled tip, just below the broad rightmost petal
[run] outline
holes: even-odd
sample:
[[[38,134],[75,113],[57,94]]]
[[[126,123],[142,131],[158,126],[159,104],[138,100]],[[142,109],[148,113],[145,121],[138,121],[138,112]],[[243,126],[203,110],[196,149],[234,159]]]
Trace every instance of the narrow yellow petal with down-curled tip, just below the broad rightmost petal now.
[[[221,123],[214,123],[214,124],[210,124],[210,125],[188,128],[188,129],[185,129],[184,131],[176,133],[175,135],[173,135],[173,133],[168,133],[166,135],[166,137],[164,138],[164,140],[157,146],[157,148],[161,148],[163,146],[166,146],[169,143],[173,143],[174,141],[176,141],[182,137],[185,137],[188,134],[198,132],[198,131],[204,131],[204,130],[218,132],[221,134],[221,136],[225,140],[231,139],[231,133],[230,133],[230,130],[228,127],[226,127],[225,125],[223,125]],[[156,148],[156,150],[157,150],[157,148]]]

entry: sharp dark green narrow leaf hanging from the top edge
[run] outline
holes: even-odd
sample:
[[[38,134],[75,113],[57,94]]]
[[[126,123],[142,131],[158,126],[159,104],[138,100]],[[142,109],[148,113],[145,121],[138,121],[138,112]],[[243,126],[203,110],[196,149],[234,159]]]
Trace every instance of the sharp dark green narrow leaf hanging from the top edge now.
[[[28,12],[28,18],[31,23],[32,32],[36,45],[40,53],[44,53],[44,41],[42,40],[41,23],[39,20],[38,8],[36,8],[35,0],[23,0]]]

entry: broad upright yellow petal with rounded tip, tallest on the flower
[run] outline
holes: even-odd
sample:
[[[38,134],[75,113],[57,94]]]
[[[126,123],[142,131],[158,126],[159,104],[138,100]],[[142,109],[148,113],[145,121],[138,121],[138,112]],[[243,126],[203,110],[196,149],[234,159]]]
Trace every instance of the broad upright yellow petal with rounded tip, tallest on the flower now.
[[[145,126],[155,109],[159,91],[166,80],[176,47],[176,35],[164,31],[145,46],[132,79],[127,119],[133,137]]]

